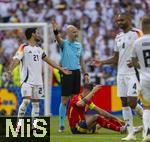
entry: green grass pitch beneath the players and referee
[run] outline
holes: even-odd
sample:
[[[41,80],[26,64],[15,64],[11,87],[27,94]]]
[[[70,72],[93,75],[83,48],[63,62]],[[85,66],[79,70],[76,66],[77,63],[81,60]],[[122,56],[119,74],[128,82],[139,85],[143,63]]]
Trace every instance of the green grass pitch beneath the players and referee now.
[[[134,125],[141,125],[142,120],[134,117]],[[108,129],[100,129],[96,134],[73,135],[70,132],[67,118],[65,121],[65,132],[58,132],[58,117],[52,116],[50,121],[50,142],[121,142],[126,134],[120,134]],[[136,134],[137,141],[141,142],[142,133]]]

